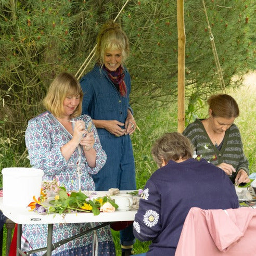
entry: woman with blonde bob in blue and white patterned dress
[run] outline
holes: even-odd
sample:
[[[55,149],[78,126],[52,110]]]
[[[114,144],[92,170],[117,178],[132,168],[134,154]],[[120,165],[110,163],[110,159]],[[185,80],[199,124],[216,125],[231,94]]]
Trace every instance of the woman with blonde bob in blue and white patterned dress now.
[[[75,77],[60,73],[44,98],[47,111],[30,120],[25,132],[31,165],[44,171],[43,181],[56,179],[68,191],[95,190],[92,174],[98,173],[106,162],[106,153],[91,117],[81,116],[82,98],[83,92]],[[55,224],[53,243],[91,227],[90,223]],[[46,247],[46,241],[47,225],[22,225],[21,249]],[[95,245],[98,255],[116,254],[110,228],[103,227],[97,229],[96,234],[87,233],[58,247],[52,255],[94,255]]]

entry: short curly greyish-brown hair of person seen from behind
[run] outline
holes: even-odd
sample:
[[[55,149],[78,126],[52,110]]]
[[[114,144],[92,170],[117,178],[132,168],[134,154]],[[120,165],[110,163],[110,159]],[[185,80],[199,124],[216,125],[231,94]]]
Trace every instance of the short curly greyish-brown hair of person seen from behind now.
[[[181,133],[172,132],[165,133],[162,137],[156,140],[152,146],[152,157],[161,167],[163,160],[169,162],[176,161],[180,158],[189,159],[193,154],[193,145],[190,140]]]

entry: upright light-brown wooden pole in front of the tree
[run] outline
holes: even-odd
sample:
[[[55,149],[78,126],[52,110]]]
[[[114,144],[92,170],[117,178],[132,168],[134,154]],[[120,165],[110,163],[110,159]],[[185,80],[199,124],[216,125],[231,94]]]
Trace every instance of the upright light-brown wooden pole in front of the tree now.
[[[178,128],[182,133],[185,129],[185,24],[184,0],[177,0],[178,30]]]

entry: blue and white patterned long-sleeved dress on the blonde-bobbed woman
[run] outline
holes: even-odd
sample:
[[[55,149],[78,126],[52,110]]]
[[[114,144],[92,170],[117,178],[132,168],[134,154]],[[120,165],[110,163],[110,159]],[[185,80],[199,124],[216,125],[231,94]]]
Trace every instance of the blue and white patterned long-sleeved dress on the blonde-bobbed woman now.
[[[82,115],[74,120],[83,120],[85,127],[91,117]],[[67,190],[95,190],[91,174],[96,174],[106,162],[106,153],[101,148],[96,127],[92,125],[96,150],[96,167],[91,168],[85,158],[82,146],[78,146],[68,161],[62,156],[60,148],[67,144],[72,135],[49,112],[44,112],[29,121],[25,132],[25,143],[30,163],[44,171],[43,181],[56,179]],[[53,227],[53,243],[74,236],[91,228],[91,223],[56,224]],[[97,225],[97,223],[93,223]],[[46,246],[47,225],[22,225],[22,239],[30,248]],[[97,243],[98,241],[98,243]],[[94,248],[94,245],[97,245]],[[23,248],[24,249],[24,248]],[[35,255],[42,255],[37,253]],[[109,226],[97,229],[76,238],[53,251],[52,255],[116,255]]]

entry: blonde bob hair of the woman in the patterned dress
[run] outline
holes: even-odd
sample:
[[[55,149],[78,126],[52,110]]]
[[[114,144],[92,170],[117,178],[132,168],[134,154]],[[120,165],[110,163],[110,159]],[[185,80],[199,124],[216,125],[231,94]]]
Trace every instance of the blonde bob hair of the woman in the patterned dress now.
[[[83,91],[74,75],[68,72],[61,72],[50,84],[48,92],[43,99],[43,105],[54,116],[61,118],[64,113],[63,101],[67,96],[76,95],[80,96],[80,103],[71,114],[71,118],[78,117],[82,113]]]

